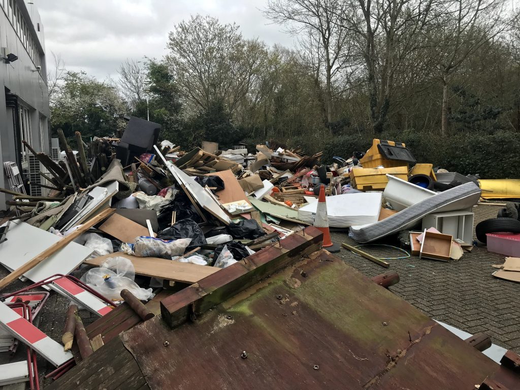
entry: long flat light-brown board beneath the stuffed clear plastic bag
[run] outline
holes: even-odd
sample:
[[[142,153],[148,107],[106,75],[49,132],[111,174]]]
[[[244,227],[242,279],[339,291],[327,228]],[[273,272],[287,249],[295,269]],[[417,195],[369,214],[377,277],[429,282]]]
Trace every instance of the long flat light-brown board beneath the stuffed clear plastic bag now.
[[[220,268],[191,263],[182,263],[159,257],[137,257],[123,252],[115,252],[96,258],[89,258],[85,264],[99,266],[109,257],[125,257],[132,262],[137,275],[150,276],[159,279],[182,283],[196,283],[206,276],[212,275]]]

